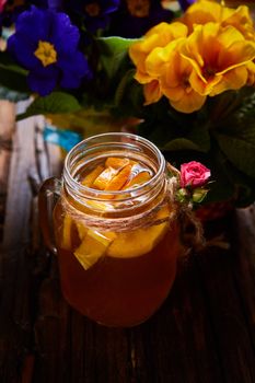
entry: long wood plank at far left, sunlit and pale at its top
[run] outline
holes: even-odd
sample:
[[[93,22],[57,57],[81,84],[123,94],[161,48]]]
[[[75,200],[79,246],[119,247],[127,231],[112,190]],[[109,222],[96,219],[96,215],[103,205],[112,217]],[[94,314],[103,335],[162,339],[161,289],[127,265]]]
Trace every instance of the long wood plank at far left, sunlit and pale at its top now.
[[[27,381],[33,375],[33,321],[37,303],[34,288],[39,280],[34,277],[40,277],[33,252],[36,246],[39,248],[39,241],[42,244],[33,207],[36,209],[36,185],[49,174],[48,160],[38,160],[45,151],[38,146],[40,120],[36,117],[18,124],[7,183],[0,257],[0,380],[8,383]]]

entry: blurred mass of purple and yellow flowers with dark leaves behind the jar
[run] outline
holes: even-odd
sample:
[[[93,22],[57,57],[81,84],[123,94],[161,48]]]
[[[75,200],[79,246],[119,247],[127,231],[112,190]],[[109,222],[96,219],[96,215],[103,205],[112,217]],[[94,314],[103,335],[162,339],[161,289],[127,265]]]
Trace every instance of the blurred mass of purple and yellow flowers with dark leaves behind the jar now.
[[[255,200],[253,1],[3,0],[0,23],[0,96],[31,97],[18,119],[73,143],[137,132],[211,169],[207,202]]]

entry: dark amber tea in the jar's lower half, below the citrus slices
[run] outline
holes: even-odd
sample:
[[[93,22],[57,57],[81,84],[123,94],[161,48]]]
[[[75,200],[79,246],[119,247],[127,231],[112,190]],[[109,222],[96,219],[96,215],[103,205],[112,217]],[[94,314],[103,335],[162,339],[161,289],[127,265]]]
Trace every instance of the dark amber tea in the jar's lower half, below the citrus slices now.
[[[60,206],[56,208],[55,217],[56,224],[60,225]],[[77,237],[77,233],[72,235]],[[167,297],[176,274],[177,254],[176,225],[149,253],[123,258],[106,255],[88,270],[72,251],[59,247],[63,295],[80,313],[97,323],[111,326],[139,324]]]

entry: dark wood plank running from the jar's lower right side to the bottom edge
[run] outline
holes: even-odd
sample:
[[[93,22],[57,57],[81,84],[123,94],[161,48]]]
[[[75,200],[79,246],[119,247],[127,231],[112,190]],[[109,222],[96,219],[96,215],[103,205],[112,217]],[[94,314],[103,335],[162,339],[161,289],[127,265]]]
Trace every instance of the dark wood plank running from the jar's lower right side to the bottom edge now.
[[[193,262],[181,266],[165,304],[136,329],[134,341],[138,381],[222,382],[217,345]]]

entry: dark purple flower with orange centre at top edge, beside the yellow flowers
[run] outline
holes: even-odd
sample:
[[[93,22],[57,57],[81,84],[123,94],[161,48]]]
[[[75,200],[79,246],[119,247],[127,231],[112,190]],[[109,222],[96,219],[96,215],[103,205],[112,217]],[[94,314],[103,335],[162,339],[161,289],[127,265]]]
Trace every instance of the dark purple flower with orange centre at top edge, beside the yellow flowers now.
[[[126,0],[113,15],[108,34],[141,37],[153,25],[172,19],[173,12],[163,9],[158,0]]]

